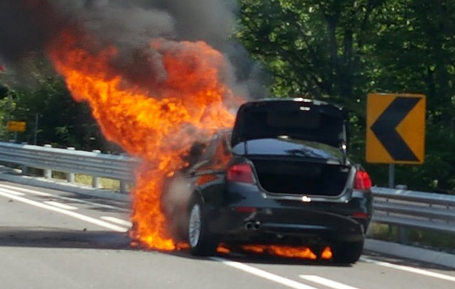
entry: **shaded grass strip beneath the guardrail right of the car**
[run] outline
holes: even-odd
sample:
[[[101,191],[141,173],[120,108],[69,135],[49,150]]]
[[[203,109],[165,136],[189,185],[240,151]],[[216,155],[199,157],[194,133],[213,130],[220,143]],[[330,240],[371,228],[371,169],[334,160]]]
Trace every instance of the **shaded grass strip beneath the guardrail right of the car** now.
[[[402,235],[405,237],[406,244],[455,253],[454,234],[414,228],[406,228],[402,231],[400,227],[378,223],[372,223],[368,229],[368,236],[382,241],[400,243]]]

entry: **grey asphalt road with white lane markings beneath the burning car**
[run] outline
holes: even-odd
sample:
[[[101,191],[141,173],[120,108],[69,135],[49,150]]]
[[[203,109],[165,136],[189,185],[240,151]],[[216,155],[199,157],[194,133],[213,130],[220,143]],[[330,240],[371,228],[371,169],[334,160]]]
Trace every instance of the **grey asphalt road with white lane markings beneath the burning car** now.
[[[365,252],[353,266],[129,246],[127,203],[0,181],[0,288],[455,288],[455,272]]]

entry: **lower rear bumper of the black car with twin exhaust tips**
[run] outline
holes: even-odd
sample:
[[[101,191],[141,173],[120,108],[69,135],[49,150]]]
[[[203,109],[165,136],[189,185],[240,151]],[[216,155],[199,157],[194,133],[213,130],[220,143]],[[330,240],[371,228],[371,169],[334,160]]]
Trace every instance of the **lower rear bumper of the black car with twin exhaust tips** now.
[[[264,211],[268,213],[264,213]],[[245,242],[314,242],[362,241],[363,227],[348,217],[326,212],[299,212],[299,218],[277,216],[272,209],[257,213],[224,212],[209,218],[210,231],[226,241]]]

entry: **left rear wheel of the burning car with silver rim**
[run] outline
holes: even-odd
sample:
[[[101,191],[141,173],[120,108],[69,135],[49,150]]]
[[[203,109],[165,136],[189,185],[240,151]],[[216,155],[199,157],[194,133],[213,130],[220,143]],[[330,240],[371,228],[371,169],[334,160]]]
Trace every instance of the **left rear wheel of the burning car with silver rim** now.
[[[195,198],[188,211],[188,244],[194,256],[210,256],[216,252],[218,241],[210,234],[203,202]]]

